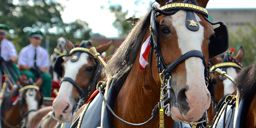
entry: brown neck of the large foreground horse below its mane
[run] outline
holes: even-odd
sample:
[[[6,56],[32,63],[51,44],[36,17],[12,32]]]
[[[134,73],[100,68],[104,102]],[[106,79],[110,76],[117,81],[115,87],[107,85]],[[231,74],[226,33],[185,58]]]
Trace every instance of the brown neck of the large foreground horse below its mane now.
[[[153,53],[154,54],[154,53]],[[132,123],[143,123],[151,117],[154,106],[160,101],[160,84],[150,75],[150,71],[139,68],[140,51],[116,98],[115,112],[124,120]],[[152,58],[155,56],[153,55]],[[147,60],[148,61],[148,60]],[[153,60],[154,61],[154,60]],[[152,61],[153,75],[156,72],[155,62]],[[148,66],[148,65],[147,65]],[[167,116],[166,116],[167,117]],[[168,126],[173,125],[173,120],[165,118]],[[114,118],[114,127],[129,127]],[[159,117],[145,127],[159,127]]]

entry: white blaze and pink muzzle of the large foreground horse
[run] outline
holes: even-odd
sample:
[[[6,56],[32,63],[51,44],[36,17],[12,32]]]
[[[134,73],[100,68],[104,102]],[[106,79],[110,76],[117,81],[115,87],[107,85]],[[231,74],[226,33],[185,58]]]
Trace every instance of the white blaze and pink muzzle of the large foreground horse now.
[[[196,13],[194,14],[199,25],[199,30],[197,31],[191,31],[186,27],[186,11],[180,10],[171,16],[182,55],[191,50],[202,51],[204,27],[199,23],[201,21],[200,17]],[[188,113],[183,115],[183,118],[195,120],[201,118],[204,111],[209,108],[210,93],[205,85],[203,60],[199,57],[190,57],[185,60],[185,65],[187,73],[186,84],[189,86],[185,94],[190,109]]]

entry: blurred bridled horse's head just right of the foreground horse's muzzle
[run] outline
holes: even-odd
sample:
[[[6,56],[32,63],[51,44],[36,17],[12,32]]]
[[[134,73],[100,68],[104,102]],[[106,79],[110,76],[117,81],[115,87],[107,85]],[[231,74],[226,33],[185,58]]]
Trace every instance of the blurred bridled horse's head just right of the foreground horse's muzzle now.
[[[210,69],[209,74],[211,82],[208,87],[209,90],[212,90],[211,93],[213,93],[214,96],[213,102],[218,103],[224,95],[230,95],[234,91],[230,85],[232,82],[226,77],[215,75],[215,69],[220,68],[222,71],[226,71],[232,78],[236,78],[238,72],[242,69],[241,63],[244,60],[244,56],[244,48],[241,46],[235,57],[232,57],[228,52],[226,52],[219,57],[213,57],[210,59],[212,68]]]

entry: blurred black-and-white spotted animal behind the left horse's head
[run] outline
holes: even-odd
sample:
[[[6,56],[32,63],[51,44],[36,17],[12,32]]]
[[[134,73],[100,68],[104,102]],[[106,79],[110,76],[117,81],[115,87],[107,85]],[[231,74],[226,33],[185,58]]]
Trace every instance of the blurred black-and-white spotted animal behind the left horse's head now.
[[[54,63],[55,63],[57,57],[62,56],[62,55],[66,55],[66,54],[67,54],[66,40],[63,37],[60,37],[57,40],[57,46],[54,48],[54,51],[53,51],[53,53],[51,55],[51,58],[50,58],[50,62],[51,62],[52,67],[54,66]],[[52,73],[51,75],[52,75],[53,81],[58,82],[60,80],[60,77],[57,75],[57,73],[55,71],[50,69],[50,73]]]

